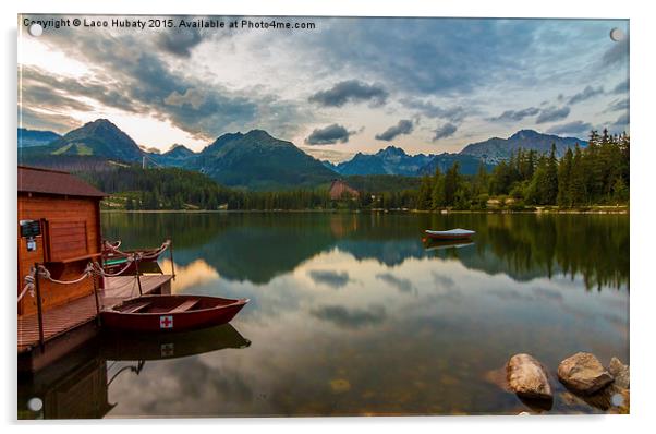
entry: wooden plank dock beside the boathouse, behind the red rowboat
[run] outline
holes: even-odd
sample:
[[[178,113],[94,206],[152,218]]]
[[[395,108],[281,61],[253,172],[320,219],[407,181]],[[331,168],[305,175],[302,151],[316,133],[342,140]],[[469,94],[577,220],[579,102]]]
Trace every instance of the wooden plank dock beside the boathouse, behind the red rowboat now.
[[[142,292],[144,294],[170,292],[170,280],[172,278],[173,276],[171,275],[142,275],[139,276]],[[98,301],[101,310],[109,309],[125,299],[139,294],[135,276],[106,277],[104,286],[105,289],[98,291]],[[87,335],[95,335],[95,329],[97,328],[96,317],[96,299],[94,294],[45,311],[44,347],[51,346],[56,340],[69,341],[66,345],[69,349],[71,346],[78,345],[80,340],[84,341],[87,338]],[[83,331],[85,329],[89,330],[85,333]],[[71,336],[66,338],[66,335],[75,330],[81,331],[78,338],[72,338]],[[17,331],[19,357],[35,352],[35,350],[39,350],[39,353],[46,352],[45,348],[41,348],[39,345],[39,325],[36,314],[19,317]],[[51,351],[51,355],[57,355],[59,352]],[[29,364],[32,365],[32,362]]]

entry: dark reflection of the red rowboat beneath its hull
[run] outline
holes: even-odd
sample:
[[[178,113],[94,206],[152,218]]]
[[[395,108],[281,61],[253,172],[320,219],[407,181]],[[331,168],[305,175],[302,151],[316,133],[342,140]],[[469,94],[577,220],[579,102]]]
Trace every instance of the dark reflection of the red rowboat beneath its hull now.
[[[193,331],[130,335],[107,331],[100,352],[107,360],[160,360],[250,345],[234,327],[223,324]]]

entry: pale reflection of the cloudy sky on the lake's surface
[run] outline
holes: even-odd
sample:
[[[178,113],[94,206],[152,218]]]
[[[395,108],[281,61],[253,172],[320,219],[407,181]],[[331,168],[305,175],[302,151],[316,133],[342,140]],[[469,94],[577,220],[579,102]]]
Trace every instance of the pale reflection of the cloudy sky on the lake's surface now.
[[[331,279],[339,291],[316,290]],[[518,281],[436,256],[392,267],[339,249],[266,285],[215,276],[184,291],[251,298],[233,322],[251,347],[147,362],[112,383],[110,417],[517,413],[517,398],[485,381],[509,353],[549,365],[581,349],[629,359],[617,326],[628,293],[583,288],[580,277]],[[336,381],[350,385],[339,399]]]

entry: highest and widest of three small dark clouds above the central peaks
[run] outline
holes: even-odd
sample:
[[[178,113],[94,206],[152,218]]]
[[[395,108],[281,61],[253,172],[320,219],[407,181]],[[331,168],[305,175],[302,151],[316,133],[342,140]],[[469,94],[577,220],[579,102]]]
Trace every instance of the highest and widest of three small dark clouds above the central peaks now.
[[[308,99],[325,107],[342,107],[347,103],[369,101],[373,106],[381,106],[389,94],[378,84],[366,84],[357,80],[339,82],[327,91],[319,91]]]

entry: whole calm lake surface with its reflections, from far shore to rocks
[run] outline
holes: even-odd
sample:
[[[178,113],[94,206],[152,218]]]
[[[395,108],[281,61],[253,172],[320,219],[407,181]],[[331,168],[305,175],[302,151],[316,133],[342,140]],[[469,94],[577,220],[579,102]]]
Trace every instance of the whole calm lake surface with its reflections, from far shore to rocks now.
[[[427,244],[427,228],[477,233]],[[502,387],[518,352],[548,369],[549,413],[593,413],[558,363],[630,363],[627,215],[106,213],[102,231],[125,249],[171,237],[173,292],[251,302],[172,341],[96,340],[20,385],[22,417],[39,417],[31,394],[45,417],[517,414],[533,411]]]

